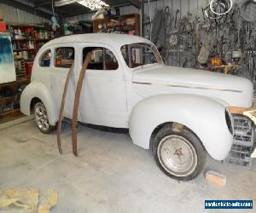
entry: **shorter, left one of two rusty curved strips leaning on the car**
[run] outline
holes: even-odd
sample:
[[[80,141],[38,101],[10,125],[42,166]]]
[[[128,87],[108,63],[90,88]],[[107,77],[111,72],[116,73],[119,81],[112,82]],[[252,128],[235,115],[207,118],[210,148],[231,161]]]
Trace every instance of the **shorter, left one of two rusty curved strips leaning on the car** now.
[[[65,100],[66,100],[66,96],[67,96],[68,83],[70,81],[71,74],[73,73],[73,66],[74,66],[74,63],[72,64],[72,66],[70,67],[70,69],[67,73],[67,78],[66,78],[66,82],[65,82],[65,86],[64,86],[64,91],[63,91],[63,95],[62,95],[62,99],[61,99],[61,108],[60,108],[60,112],[59,112],[59,121],[58,121],[58,129],[57,129],[57,144],[58,144],[59,152],[61,154],[62,154],[62,146],[61,146],[62,115],[63,115],[63,111],[64,111],[64,107],[65,107]]]

